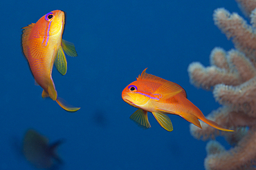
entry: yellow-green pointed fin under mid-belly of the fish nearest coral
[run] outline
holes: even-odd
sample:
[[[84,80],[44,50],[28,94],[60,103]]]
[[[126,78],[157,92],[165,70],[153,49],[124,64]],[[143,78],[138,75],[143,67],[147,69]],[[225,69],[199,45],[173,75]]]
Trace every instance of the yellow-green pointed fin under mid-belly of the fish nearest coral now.
[[[166,114],[161,114],[161,113],[156,113],[156,112],[152,112],[152,114],[156,118],[159,125],[161,125],[161,127],[163,127],[163,129],[165,129],[167,131],[172,131],[174,129],[172,127],[172,121]]]

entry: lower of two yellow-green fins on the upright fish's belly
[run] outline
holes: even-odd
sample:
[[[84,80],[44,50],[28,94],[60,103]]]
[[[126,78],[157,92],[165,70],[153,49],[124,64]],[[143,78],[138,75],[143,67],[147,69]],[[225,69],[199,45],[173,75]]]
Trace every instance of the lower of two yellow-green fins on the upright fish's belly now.
[[[60,74],[65,75],[67,66],[66,66],[66,56],[62,50],[62,47],[59,48],[57,51],[57,56],[54,61],[54,65],[57,68],[57,70],[60,72]]]

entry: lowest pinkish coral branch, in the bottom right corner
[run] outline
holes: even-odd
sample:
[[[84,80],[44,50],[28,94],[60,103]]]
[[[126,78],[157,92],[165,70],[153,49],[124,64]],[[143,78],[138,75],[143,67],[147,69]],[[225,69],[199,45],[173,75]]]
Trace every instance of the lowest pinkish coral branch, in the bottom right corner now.
[[[226,151],[219,142],[209,142],[206,149],[208,156],[205,158],[205,169],[250,169],[256,165],[256,131],[248,132],[236,147]]]

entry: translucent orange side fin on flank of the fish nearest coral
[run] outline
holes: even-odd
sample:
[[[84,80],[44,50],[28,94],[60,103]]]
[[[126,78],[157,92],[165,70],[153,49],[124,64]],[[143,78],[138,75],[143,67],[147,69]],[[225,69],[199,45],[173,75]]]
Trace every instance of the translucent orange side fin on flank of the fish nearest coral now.
[[[175,96],[176,94],[179,94],[183,91],[183,88],[179,87],[175,83],[172,82],[166,82],[163,83],[158,89],[156,89],[156,92],[154,94],[161,94],[162,97],[160,100],[165,100],[167,98],[171,98],[172,96]]]

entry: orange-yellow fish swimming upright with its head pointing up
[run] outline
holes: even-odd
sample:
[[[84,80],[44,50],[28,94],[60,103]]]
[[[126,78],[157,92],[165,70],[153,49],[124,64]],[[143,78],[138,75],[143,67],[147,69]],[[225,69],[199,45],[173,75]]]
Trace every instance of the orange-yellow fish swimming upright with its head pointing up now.
[[[22,47],[35,82],[43,88],[42,97],[50,97],[66,111],[77,111],[80,107],[64,104],[57,97],[53,83],[53,63],[57,70],[66,74],[66,54],[77,56],[75,46],[62,39],[65,24],[65,15],[61,10],[54,10],[44,15],[37,23],[24,27]]]

